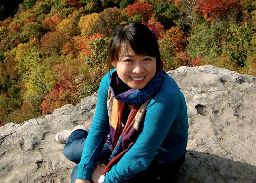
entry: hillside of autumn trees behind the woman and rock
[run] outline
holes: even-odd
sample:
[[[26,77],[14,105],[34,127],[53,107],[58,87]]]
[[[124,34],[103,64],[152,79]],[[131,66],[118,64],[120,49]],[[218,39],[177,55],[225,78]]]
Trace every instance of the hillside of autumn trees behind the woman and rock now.
[[[141,18],[161,32],[166,71],[215,65],[256,76],[254,0],[24,0],[15,11],[0,21],[0,126],[97,91],[113,32]]]

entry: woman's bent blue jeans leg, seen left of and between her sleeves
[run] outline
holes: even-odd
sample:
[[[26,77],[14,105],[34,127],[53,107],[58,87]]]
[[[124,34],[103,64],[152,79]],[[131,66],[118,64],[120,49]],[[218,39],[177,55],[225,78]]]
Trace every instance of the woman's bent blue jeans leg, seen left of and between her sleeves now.
[[[63,154],[67,159],[77,164],[80,163],[87,135],[88,133],[84,130],[77,130],[71,133],[63,149]],[[109,149],[109,146],[104,144],[103,149],[100,152],[100,156],[97,160],[97,163],[108,163],[110,155],[111,150]],[[72,170],[71,183],[75,183],[76,176],[77,165]]]

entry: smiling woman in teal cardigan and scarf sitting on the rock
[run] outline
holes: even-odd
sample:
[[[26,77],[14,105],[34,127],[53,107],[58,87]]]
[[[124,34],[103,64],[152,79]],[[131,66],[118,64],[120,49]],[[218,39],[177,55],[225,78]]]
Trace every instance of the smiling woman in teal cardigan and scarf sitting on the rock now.
[[[163,70],[158,36],[154,26],[135,22],[114,33],[108,64],[115,69],[100,83],[90,133],[81,126],[68,131],[64,155],[78,163],[71,182],[171,182],[179,171],[187,107]]]

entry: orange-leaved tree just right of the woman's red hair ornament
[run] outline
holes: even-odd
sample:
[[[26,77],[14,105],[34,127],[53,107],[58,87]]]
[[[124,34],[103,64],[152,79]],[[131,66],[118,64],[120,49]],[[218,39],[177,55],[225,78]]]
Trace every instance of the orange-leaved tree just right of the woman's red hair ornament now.
[[[175,52],[184,50],[185,45],[187,44],[187,36],[178,27],[172,27],[167,30],[165,38],[172,41]]]

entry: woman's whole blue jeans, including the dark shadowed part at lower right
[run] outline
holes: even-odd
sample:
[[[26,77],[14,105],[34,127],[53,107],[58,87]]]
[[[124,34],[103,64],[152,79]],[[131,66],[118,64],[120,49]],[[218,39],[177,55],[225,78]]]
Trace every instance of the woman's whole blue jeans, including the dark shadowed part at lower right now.
[[[63,150],[63,154],[67,159],[73,161],[75,163],[79,163],[82,157],[84,143],[86,140],[88,133],[84,130],[74,131],[67,139],[66,145]],[[164,183],[164,182],[173,182],[175,179],[175,175],[179,172],[186,151],[184,154],[177,160],[168,162],[168,163],[159,163],[156,157],[153,159],[151,164],[146,170],[143,170],[140,173],[137,173],[131,179],[128,179],[126,183],[134,183],[134,182],[156,182],[156,183]],[[97,163],[105,163],[109,162],[109,156],[111,155],[111,150],[109,146],[104,144],[103,149],[100,152],[100,156],[97,159]],[[71,183],[75,183],[77,176],[77,165],[73,168],[71,175]]]

